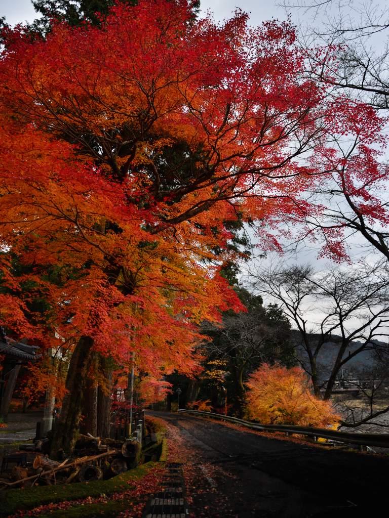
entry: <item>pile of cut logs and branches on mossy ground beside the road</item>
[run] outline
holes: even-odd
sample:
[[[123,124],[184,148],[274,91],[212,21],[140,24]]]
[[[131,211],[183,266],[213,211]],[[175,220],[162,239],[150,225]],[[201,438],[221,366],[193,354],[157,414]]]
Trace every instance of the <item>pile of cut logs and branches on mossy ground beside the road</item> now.
[[[43,440],[21,445],[21,450],[37,453],[34,461],[27,463],[27,467],[15,466],[9,473],[0,475],[0,489],[107,480],[137,466],[142,453],[142,445],[136,440],[121,443],[112,439],[79,436],[75,453],[89,455],[57,462],[45,455],[47,442]]]

